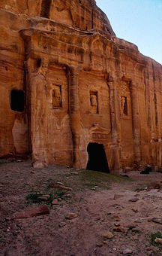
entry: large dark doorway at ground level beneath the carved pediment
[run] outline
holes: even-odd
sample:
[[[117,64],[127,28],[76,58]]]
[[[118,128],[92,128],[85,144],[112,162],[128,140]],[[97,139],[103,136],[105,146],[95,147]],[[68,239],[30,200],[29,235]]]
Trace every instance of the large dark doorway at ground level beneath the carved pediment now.
[[[87,151],[89,153],[89,161],[86,169],[110,172],[103,144],[89,143]]]

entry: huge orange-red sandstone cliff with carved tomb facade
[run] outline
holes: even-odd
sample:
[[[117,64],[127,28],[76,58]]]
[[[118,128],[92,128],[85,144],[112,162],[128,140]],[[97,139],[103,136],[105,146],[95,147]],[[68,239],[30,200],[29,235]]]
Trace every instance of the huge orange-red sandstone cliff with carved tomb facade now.
[[[0,29],[0,156],[161,166],[162,66],[116,38],[94,0],[2,0]]]

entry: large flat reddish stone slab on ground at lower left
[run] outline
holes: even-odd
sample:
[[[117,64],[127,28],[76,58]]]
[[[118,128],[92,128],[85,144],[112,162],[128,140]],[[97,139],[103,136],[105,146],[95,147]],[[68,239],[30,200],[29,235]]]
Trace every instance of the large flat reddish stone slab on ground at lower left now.
[[[40,215],[46,215],[46,214],[49,214],[48,206],[35,206],[35,207],[29,207],[27,209],[24,209],[21,212],[17,212],[10,219],[14,220],[19,218],[31,218],[34,216],[40,216]]]

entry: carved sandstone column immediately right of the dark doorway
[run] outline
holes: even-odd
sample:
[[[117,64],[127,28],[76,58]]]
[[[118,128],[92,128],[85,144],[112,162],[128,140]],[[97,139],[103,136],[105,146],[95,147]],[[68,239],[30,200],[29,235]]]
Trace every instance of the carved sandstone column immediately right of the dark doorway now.
[[[112,156],[113,164],[112,169],[114,173],[121,171],[121,160],[120,160],[120,147],[119,147],[119,120],[118,120],[118,104],[117,104],[117,90],[113,78],[108,78],[108,86],[110,92],[110,117],[111,117],[111,135],[112,135]]]

